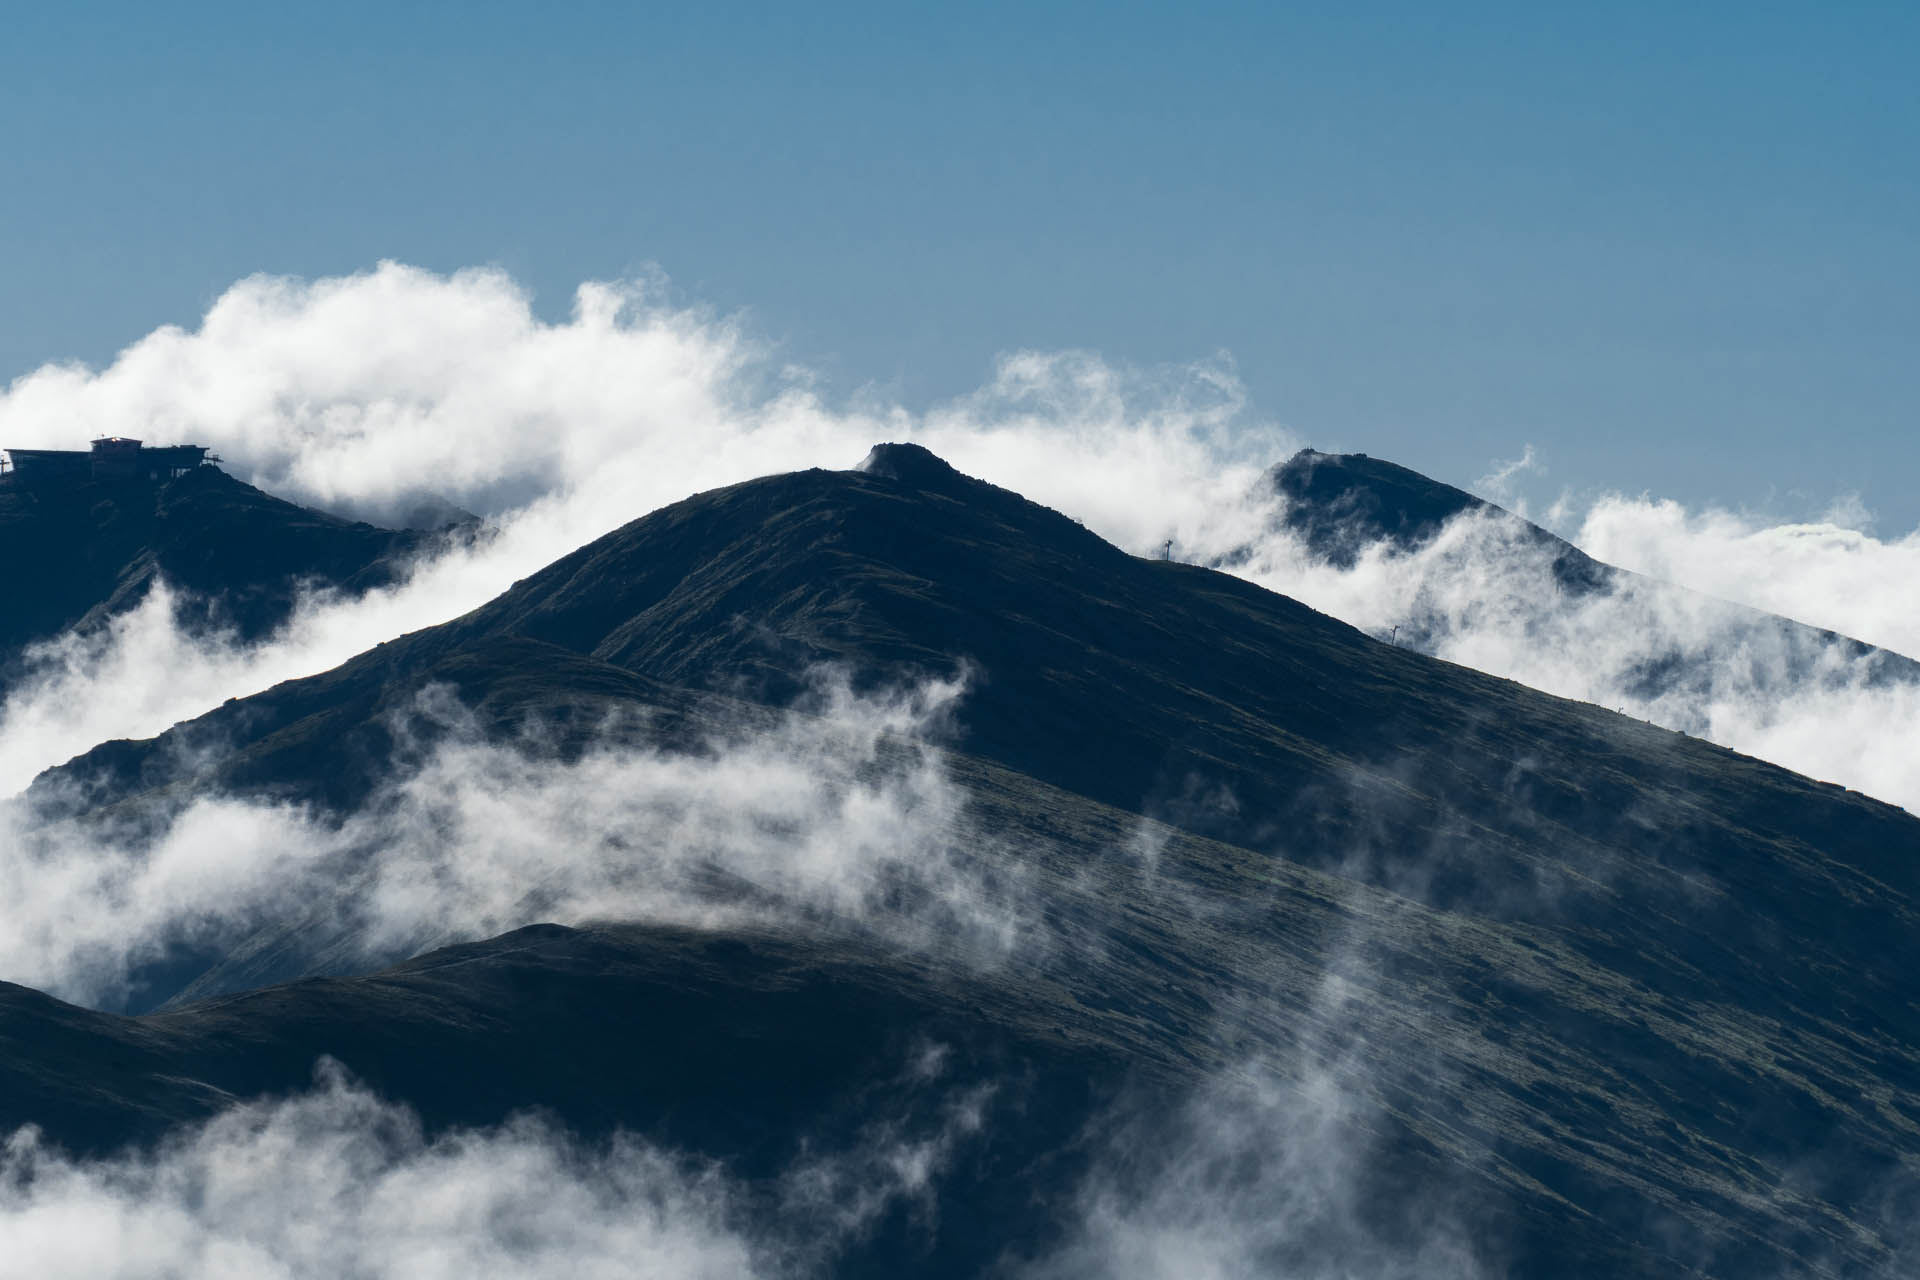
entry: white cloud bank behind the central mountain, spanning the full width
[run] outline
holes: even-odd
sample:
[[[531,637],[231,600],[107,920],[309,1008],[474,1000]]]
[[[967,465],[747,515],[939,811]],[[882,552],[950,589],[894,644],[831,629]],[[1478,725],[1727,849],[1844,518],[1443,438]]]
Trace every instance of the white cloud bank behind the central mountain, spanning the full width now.
[[[1711,608],[1567,601],[1486,528],[1344,576],[1313,564],[1258,497],[1260,472],[1296,441],[1248,411],[1225,357],[1125,370],[1089,353],[1014,353],[979,391],[908,413],[872,393],[829,401],[739,322],[672,305],[651,282],[586,284],[572,315],[547,322],[503,273],[384,263],[242,280],[196,330],[161,328],[106,368],[46,367],[0,393],[0,439],[90,434],[204,441],[250,482],[359,514],[434,493],[486,512],[501,535],[365,601],[317,597],[265,647],[182,641],[156,606],[40,651],[38,679],[0,708],[0,791],[104,737],[157,733],[472,608],[687,493],[852,466],[879,439],[916,439],[1129,551],[1171,543],[1179,558],[1215,562],[1252,547],[1236,572],[1365,629],[1442,618],[1440,656],[1920,804],[1920,779],[1901,764],[1920,758],[1910,693],[1864,670],[1809,676]],[[1482,486],[1532,464],[1523,453]],[[1599,558],[1920,652],[1920,533],[1768,528],[1622,497],[1574,524]],[[1638,676],[1672,654],[1724,676],[1684,699],[1645,695]]]

